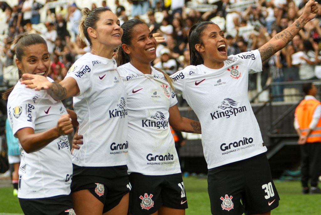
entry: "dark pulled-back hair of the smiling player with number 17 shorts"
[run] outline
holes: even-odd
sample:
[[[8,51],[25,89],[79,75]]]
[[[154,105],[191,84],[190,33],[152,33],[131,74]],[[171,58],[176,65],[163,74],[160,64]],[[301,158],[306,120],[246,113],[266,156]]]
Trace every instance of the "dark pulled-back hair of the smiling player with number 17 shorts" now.
[[[126,44],[126,45],[131,45],[132,44],[132,39],[133,39],[133,34],[134,34],[134,27],[138,24],[144,24],[146,26],[148,26],[146,23],[144,23],[142,20],[140,19],[131,19],[128,20],[126,22],[124,22],[120,27],[123,29],[124,33],[123,36],[121,38],[121,44]],[[129,54],[127,54],[122,46],[119,46],[117,48],[117,53],[116,53],[116,62],[117,62],[117,66],[121,66],[124,65],[125,63],[129,63],[130,62],[130,56]],[[173,80],[162,70],[155,68],[154,69],[160,71],[161,73],[163,73],[165,79],[167,80],[167,82],[169,83],[169,86],[173,88]]]

